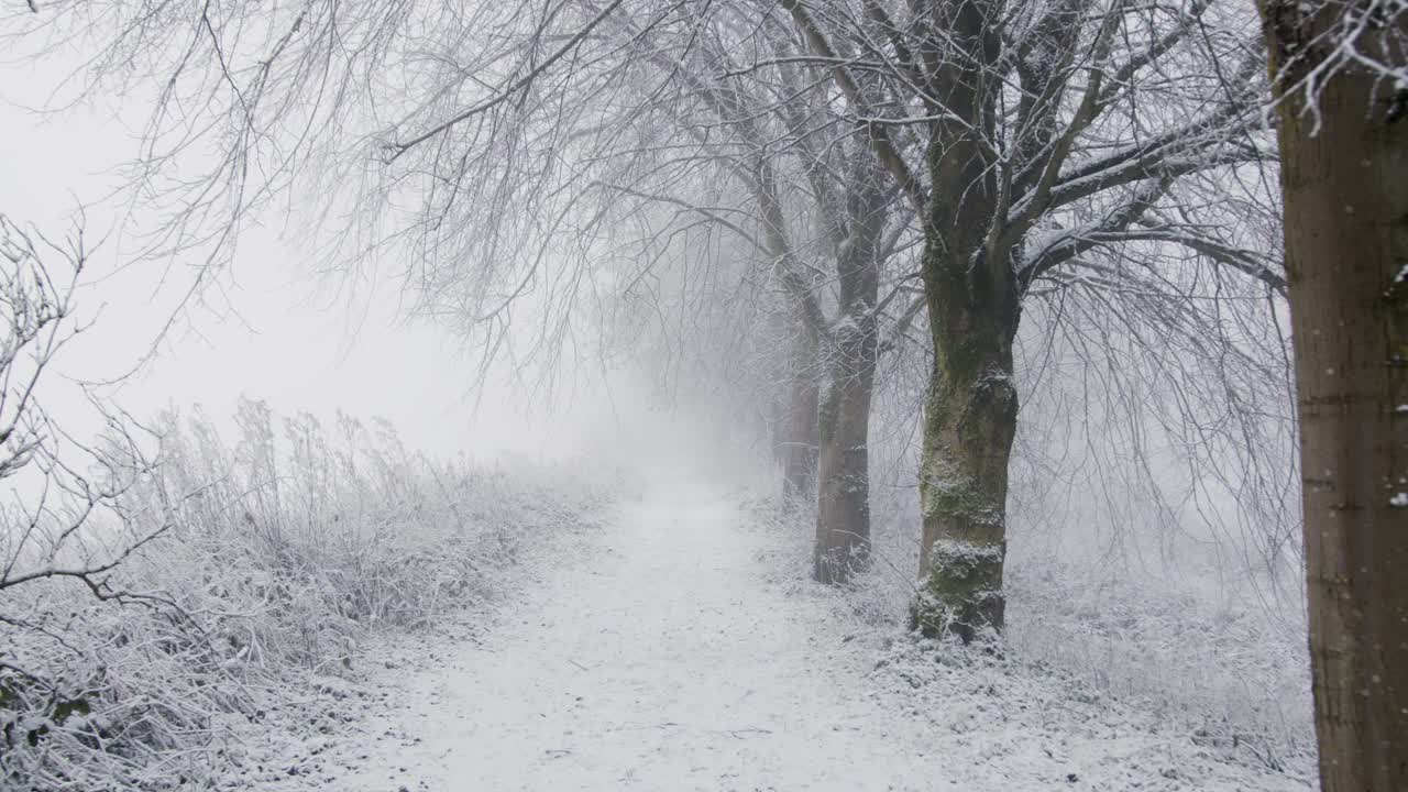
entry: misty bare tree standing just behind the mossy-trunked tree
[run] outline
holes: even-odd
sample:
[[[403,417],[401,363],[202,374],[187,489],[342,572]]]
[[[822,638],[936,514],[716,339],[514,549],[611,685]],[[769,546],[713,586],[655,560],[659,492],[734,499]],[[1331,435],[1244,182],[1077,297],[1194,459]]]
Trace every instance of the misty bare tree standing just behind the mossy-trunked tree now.
[[[881,299],[880,290],[893,280],[887,262],[917,234],[865,134],[838,127],[825,82],[807,80],[791,63],[800,51],[790,27],[772,18],[753,28],[752,13],[721,10],[687,37],[650,34],[625,16],[607,23],[622,41],[649,48],[646,65],[659,73],[642,82],[677,86],[663,103],[673,134],[708,147],[698,154],[710,152],[739,200],[703,202],[677,182],[655,186],[653,171],[614,189],[738,235],[786,295],[791,330],[777,421],[784,493],[811,495],[815,479],[814,575],[841,582],[863,565],[870,536],[867,437],[879,328],[887,310],[908,304],[895,303],[890,289]],[[748,48],[776,58],[759,63],[734,55]]]

